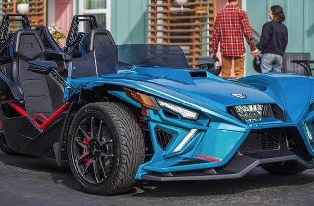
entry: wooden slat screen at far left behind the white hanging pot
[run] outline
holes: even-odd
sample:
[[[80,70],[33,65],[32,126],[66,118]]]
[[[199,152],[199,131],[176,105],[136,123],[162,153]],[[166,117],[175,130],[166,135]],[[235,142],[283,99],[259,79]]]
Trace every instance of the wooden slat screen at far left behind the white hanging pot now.
[[[0,16],[5,14],[17,14],[18,0],[0,0]],[[29,18],[30,25],[35,28],[38,26],[46,26],[46,0],[30,0],[30,11],[26,13]],[[2,20],[2,19],[1,19]],[[11,31],[20,28],[20,25],[11,24]]]

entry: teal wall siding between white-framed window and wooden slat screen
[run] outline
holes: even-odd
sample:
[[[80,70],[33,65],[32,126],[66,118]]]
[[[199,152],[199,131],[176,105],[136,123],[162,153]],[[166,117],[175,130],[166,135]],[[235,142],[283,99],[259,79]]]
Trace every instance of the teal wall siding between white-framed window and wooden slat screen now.
[[[147,0],[111,0],[111,33],[117,44],[145,44]]]

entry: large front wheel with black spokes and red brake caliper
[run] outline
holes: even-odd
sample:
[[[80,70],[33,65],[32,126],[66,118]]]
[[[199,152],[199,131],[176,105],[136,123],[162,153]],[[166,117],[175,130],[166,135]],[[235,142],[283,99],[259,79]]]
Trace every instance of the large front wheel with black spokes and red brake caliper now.
[[[90,133],[87,131],[89,124]],[[102,134],[96,136],[96,132],[93,131],[95,128]],[[93,139],[92,131],[95,137]],[[110,143],[100,148],[104,142]],[[83,151],[82,154],[77,154],[80,150]],[[78,111],[71,123],[67,151],[71,171],[88,193],[95,195],[124,193],[136,182],[135,174],[139,165],[144,162],[144,136],[134,115],[123,104],[90,103]],[[84,154],[88,156],[82,160]],[[90,164],[92,166],[89,166]]]

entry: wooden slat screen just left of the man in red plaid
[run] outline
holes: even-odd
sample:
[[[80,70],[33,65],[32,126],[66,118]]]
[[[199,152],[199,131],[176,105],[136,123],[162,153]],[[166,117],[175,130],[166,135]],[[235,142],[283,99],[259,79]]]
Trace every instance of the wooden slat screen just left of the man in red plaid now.
[[[179,45],[190,67],[209,56],[216,0],[189,0],[184,9],[174,0],[148,0],[149,44]]]

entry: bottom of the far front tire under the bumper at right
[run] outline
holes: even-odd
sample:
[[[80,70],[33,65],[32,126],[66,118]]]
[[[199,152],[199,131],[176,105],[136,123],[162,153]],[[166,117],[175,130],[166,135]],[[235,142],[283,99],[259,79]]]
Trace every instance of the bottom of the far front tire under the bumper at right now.
[[[269,173],[273,173],[276,175],[293,175],[300,172],[303,172],[307,168],[303,165],[299,164],[296,161],[287,161],[283,165],[280,166],[264,166],[262,167]]]

